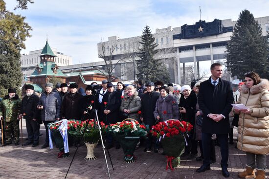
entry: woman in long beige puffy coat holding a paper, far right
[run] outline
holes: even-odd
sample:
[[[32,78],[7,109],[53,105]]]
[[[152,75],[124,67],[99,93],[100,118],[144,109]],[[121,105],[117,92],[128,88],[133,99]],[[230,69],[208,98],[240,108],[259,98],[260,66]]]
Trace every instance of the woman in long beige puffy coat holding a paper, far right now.
[[[266,155],[269,153],[269,81],[260,79],[254,72],[246,73],[245,81],[238,103],[247,109],[235,109],[235,113],[240,114],[237,148],[246,152],[247,165],[238,176],[264,179]]]

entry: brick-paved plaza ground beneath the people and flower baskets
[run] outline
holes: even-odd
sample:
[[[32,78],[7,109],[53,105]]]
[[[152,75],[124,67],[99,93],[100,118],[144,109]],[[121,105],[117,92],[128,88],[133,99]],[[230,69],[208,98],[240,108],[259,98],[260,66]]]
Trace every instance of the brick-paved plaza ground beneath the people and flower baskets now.
[[[23,121],[25,122],[25,121]],[[45,127],[41,126],[40,145],[37,147],[15,146],[14,144],[5,147],[0,146],[0,179],[64,179],[69,163],[73,157],[76,148],[70,147],[70,157],[57,158],[59,150],[41,149],[45,140]],[[236,130],[234,130],[236,138]],[[27,132],[25,123],[23,124],[24,142]],[[111,159],[114,166],[108,158],[110,175],[112,179],[222,179],[221,173],[221,154],[220,148],[216,146],[217,162],[211,165],[211,170],[204,173],[196,173],[202,161],[181,160],[180,168],[171,171],[166,170],[166,158],[161,153],[145,153],[144,147],[138,148],[134,155],[137,157],[134,163],[125,163],[123,161],[122,149],[110,149]],[[106,162],[102,146],[98,145],[95,149],[96,160],[84,160],[87,154],[86,146],[78,148],[77,155],[72,163],[67,179],[109,179],[106,169]],[[107,153],[106,153],[107,154]],[[238,171],[243,171],[246,163],[244,152],[229,145],[229,179],[238,179]],[[269,159],[267,159],[269,163]],[[269,170],[266,173],[269,178]]]

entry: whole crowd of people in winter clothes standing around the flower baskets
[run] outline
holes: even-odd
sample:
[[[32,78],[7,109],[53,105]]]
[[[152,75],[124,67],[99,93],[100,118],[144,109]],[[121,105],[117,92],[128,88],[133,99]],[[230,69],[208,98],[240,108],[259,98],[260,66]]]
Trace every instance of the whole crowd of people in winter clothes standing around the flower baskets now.
[[[181,157],[202,161],[196,172],[205,172],[210,170],[210,164],[216,162],[217,143],[221,148],[222,174],[229,177],[228,142],[234,143],[232,134],[235,125],[238,127],[236,146],[247,155],[246,170],[238,176],[264,179],[266,155],[269,153],[269,81],[260,79],[255,72],[248,72],[245,82],[239,83],[234,94],[231,83],[221,79],[222,69],[221,64],[213,63],[209,79],[182,87],[172,83],[166,86],[161,81],[144,83],[143,80],[138,80],[136,86],[125,86],[122,82],[114,86],[103,80],[100,88],[93,82],[84,92],[78,90],[76,83],[71,83],[68,91],[66,83],[57,83],[53,88],[53,84],[48,82],[40,97],[34,93],[34,86],[27,84],[22,100],[16,89],[8,89],[8,95],[0,102],[4,145],[11,144],[12,139],[15,145],[19,144],[20,119],[25,119],[28,133],[24,145],[32,144],[33,147],[39,145],[40,125],[44,123],[46,137],[42,148],[49,146],[47,124],[60,119],[93,119],[93,109],[97,110],[99,120],[108,125],[131,118],[151,128],[159,121],[179,119],[194,126]],[[232,103],[242,103],[246,108],[232,108]],[[105,141],[107,149],[120,148],[112,135],[106,135]],[[150,134],[145,140],[141,139],[137,147],[142,144],[144,152],[151,152],[152,148],[159,152],[160,144]]]

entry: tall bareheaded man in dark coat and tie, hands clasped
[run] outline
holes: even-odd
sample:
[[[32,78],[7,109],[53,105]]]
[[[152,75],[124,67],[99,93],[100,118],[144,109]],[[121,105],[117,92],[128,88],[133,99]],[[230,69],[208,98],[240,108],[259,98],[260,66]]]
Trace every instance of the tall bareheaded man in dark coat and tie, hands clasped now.
[[[231,83],[221,80],[223,67],[213,63],[210,67],[212,76],[200,85],[198,103],[203,112],[202,147],[203,164],[196,172],[210,170],[210,144],[212,134],[217,134],[221,147],[221,167],[224,177],[229,177],[228,133],[230,132],[229,113],[232,109],[233,91]]]

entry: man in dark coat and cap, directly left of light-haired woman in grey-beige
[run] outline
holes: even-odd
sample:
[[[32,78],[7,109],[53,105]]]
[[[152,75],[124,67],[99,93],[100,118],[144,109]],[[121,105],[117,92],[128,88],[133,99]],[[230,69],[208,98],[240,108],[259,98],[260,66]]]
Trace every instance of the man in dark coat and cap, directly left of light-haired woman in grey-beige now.
[[[119,119],[119,108],[121,104],[121,98],[120,94],[116,91],[114,91],[114,86],[112,83],[107,84],[107,93],[104,95],[102,99],[101,109],[103,111],[103,114],[105,116],[104,122],[106,125],[114,124],[118,122]],[[110,149],[113,147],[113,136],[107,135],[106,136],[106,145],[107,149]],[[118,143],[116,144],[116,148],[118,149]]]

